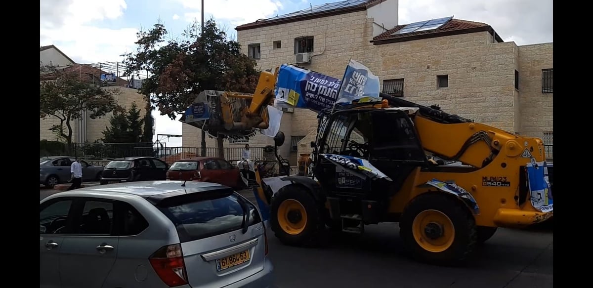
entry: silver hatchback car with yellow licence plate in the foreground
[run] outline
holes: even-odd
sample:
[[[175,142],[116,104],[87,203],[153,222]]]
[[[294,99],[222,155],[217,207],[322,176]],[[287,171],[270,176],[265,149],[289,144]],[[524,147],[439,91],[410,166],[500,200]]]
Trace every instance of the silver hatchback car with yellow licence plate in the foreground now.
[[[266,228],[220,184],[142,181],[40,201],[40,287],[273,287]]]

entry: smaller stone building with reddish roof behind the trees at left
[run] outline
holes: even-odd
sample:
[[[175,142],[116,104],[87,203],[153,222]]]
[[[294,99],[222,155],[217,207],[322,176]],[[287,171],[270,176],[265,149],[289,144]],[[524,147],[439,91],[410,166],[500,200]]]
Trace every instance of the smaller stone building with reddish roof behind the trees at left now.
[[[80,75],[83,81],[100,84],[101,74],[111,74],[110,65],[104,65],[102,69],[94,67],[93,65],[77,64],[70,57],[66,56],[62,51],[53,45],[40,47],[40,66],[54,66],[63,71],[68,71]],[[123,71],[123,69],[122,69]],[[114,73],[117,74],[117,73]],[[146,114],[146,101],[143,96],[138,93],[138,89],[130,88],[130,81],[122,79],[116,75],[115,82],[110,82],[104,89],[119,89],[119,95],[116,96],[117,103],[122,107],[129,108],[132,103],[136,103],[140,109],[141,117]],[[137,81],[135,82],[138,83]],[[100,140],[103,137],[103,131],[109,126],[111,113],[100,119],[90,119],[86,116],[82,119],[71,121],[72,124],[72,141],[76,143],[93,143],[95,140]],[[152,121],[154,125],[154,120]],[[60,120],[48,116],[39,119],[39,140],[57,140],[56,135],[50,128],[53,125],[60,123]],[[154,133],[154,128],[153,128]]]

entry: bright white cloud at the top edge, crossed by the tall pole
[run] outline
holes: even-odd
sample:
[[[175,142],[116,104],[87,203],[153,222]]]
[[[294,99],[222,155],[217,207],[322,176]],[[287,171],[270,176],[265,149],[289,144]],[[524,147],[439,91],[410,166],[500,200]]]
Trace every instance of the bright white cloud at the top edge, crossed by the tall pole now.
[[[201,18],[200,1],[176,0],[189,10],[184,13],[187,21]],[[262,18],[269,18],[282,9],[282,3],[275,0],[216,0],[204,3],[204,18],[211,16],[217,20],[225,20],[232,25],[250,23]],[[234,28],[234,27],[232,27]]]

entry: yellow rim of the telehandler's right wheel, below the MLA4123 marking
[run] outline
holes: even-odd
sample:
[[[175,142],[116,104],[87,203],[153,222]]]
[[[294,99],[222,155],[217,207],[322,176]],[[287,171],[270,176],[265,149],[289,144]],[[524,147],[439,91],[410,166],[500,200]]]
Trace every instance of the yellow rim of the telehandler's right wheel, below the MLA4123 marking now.
[[[447,250],[455,240],[455,227],[447,215],[438,210],[420,212],[412,223],[416,243],[430,252]]]

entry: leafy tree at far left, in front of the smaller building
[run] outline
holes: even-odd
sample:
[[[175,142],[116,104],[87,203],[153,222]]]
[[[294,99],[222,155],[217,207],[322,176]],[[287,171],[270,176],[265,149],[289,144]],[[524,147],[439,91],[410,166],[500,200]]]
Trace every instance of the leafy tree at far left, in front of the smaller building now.
[[[91,119],[97,119],[117,108],[116,89],[97,87],[68,69],[44,67],[39,75],[39,117],[59,119],[60,124],[50,130],[68,144],[72,143],[71,122],[80,119],[84,110]]]

